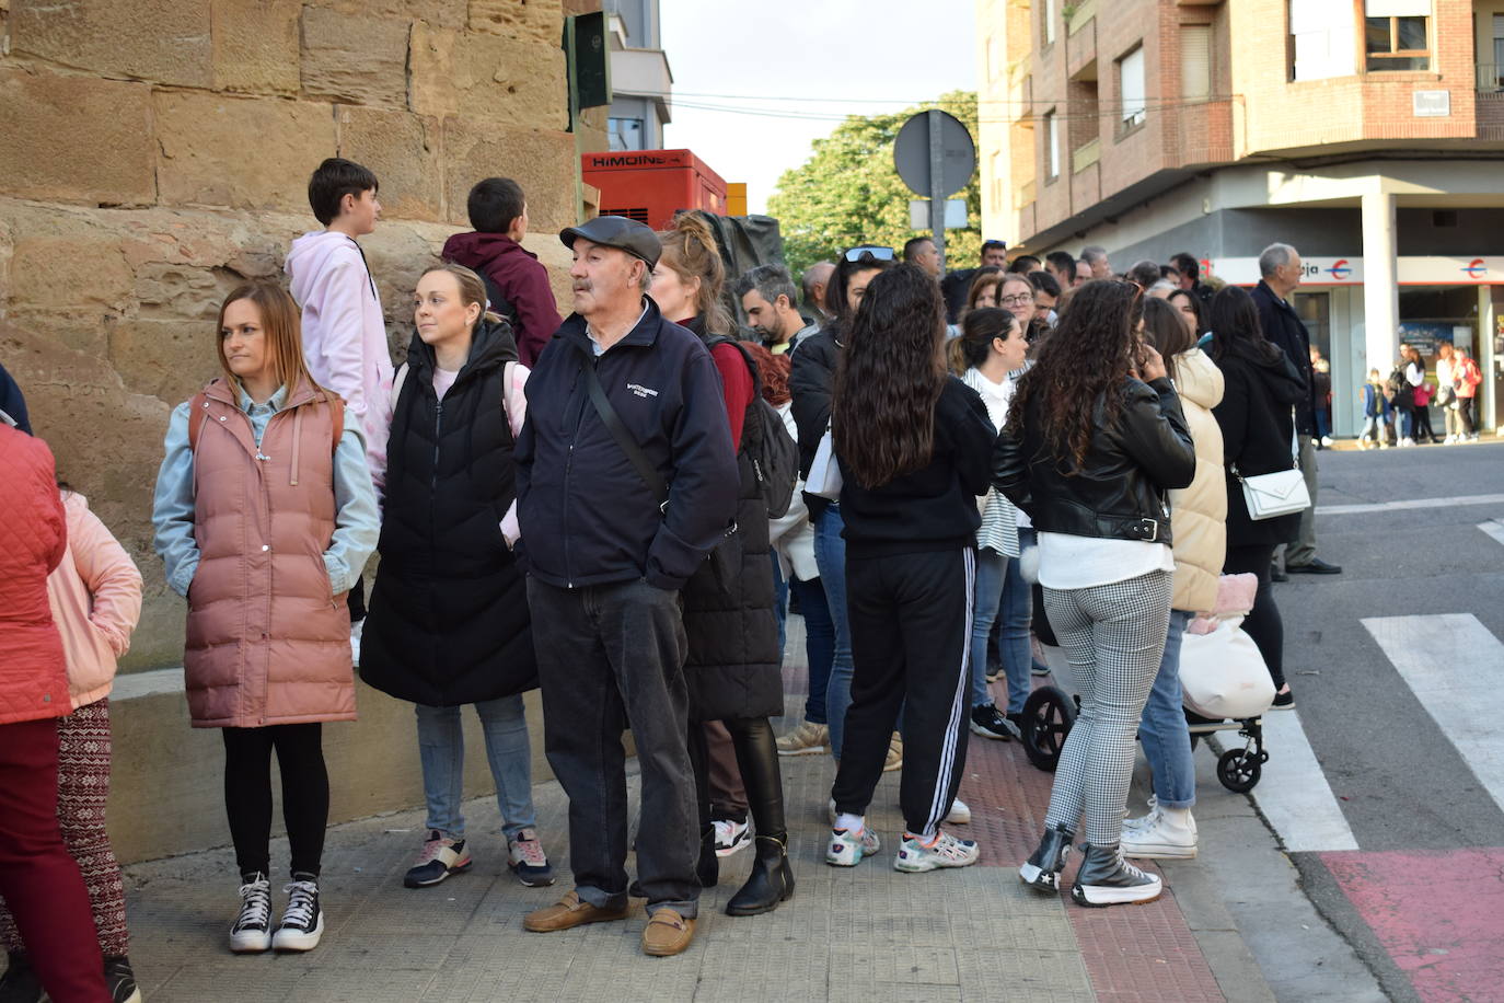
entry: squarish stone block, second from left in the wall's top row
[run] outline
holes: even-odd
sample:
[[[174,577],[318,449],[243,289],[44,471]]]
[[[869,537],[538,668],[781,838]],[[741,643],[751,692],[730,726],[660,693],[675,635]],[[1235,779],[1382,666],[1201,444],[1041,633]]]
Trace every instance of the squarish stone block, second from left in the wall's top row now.
[[[214,0],[214,87],[296,95],[299,0]]]

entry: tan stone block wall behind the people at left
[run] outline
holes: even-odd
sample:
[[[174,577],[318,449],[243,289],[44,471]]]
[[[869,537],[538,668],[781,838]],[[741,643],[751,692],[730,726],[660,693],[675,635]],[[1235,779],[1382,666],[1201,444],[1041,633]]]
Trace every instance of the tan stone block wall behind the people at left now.
[[[528,191],[526,244],[567,289],[552,235],[576,223],[579,161],[559,38],[566,8],[590,6],[0,0],[0,362],[146,576],[126,669],[182,653],[150,549],[167,415],[217,373],[224,293],[281,275],[317,227],[320,159],[381,177],[385,218],[362,244],[396,352],[418,272],[487,174]]]

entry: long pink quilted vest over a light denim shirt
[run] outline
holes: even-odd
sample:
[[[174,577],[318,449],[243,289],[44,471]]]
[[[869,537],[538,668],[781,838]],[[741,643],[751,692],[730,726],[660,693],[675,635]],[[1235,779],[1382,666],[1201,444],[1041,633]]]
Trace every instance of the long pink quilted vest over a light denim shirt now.
[[[350,617],[323,567],[338,395],[299,383],[260,448],[217,379],[191,414],[194,540],[183,671],[194,728],[355,719]]]

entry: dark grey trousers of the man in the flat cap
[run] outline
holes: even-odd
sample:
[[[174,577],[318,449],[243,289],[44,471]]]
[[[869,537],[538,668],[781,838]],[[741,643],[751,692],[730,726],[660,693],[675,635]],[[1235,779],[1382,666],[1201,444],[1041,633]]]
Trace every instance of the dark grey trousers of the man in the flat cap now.
[[[579,898],[627,904],[632,728],[642,770],[638,883],[647,911],[698,911],[699,812],[689,764],[689,692],[678,592],[636,579],[556,588],[528,579],[543,689],[543,744],[569,795],[570,869]]]

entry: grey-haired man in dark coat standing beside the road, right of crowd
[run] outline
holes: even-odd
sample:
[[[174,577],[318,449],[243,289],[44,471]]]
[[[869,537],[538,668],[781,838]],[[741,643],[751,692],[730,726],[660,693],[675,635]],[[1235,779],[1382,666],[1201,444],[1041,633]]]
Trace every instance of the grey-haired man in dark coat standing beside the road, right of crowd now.
[[[1301,513],[1301,531],[1284,547],[1284,570],[1290,574],[1340,574],[1342,567],[1316,556],[1316,380],[1311,371],[1311,335],[1301,322],[1289,295],[1301,284],[1301,256],[1289,244],[1271,244],[1259,256],[1257,287],[1250,293],[1259,308],[1263,335],[1278,344],[1305,380],[1305,394],[1295,405],[1295,438],[1299,442],[1301,471],[1311,505]]]

